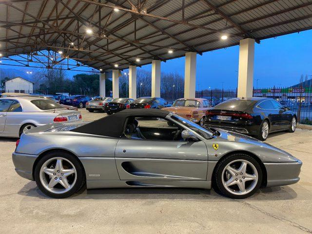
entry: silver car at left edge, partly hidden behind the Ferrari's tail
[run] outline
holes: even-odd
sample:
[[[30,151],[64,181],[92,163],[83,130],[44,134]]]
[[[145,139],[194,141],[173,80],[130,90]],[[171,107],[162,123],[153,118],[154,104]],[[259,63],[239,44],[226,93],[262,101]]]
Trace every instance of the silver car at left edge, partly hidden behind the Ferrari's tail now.
[[[20,137],[37,126],[80,119],[80,112],[67,110],[49,98],[0,98],[0,137]]]

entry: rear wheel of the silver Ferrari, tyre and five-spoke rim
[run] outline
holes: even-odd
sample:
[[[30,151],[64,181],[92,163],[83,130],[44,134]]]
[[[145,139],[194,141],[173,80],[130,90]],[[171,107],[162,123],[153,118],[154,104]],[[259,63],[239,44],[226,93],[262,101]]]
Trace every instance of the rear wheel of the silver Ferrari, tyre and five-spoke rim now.
[[[40,191],[53,198],[71,196],[85,183],[78,159],[61,151],[43,156],[35,168],[34,176]]]

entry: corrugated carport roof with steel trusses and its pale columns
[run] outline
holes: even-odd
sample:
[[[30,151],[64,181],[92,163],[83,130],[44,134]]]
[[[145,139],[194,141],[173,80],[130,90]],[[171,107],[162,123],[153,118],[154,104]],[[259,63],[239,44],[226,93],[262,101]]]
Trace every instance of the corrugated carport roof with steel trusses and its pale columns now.
[[[2,57],[59,53],[41,55],[55,59],[41,61],[47,68],[76,59],[101,73],[101,96],[105,73],[112,72],[114,98],[118,70],[129,68],[129,97],[136,98],[137,66],[149,63],[152,96],[159,97],[160,62],[183,56],[185,97],[193,98],[196,54],[240,45],[238,97],[249,97],[254,43],[312,29],[312,1],[1,0],[0,27]]]

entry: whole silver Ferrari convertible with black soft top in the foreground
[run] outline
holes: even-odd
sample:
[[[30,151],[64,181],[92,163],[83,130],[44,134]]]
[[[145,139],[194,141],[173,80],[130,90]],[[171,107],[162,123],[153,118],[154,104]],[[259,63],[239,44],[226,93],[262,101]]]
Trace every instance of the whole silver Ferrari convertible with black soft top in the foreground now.
[[[246,198],[299,181],[302,162],[238,133],[206,129],[164,110],[129,109],[93,122],[55,123],[22,134],[16,172],[46,195],[93,188],[215,188]]]

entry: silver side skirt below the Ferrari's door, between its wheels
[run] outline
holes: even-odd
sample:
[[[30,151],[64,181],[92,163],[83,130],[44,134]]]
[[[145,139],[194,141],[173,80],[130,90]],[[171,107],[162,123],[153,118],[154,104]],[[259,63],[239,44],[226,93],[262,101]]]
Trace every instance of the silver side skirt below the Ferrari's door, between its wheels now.
[[[211,181],[87,180],[87,189],[148,187],[211,189]]]

